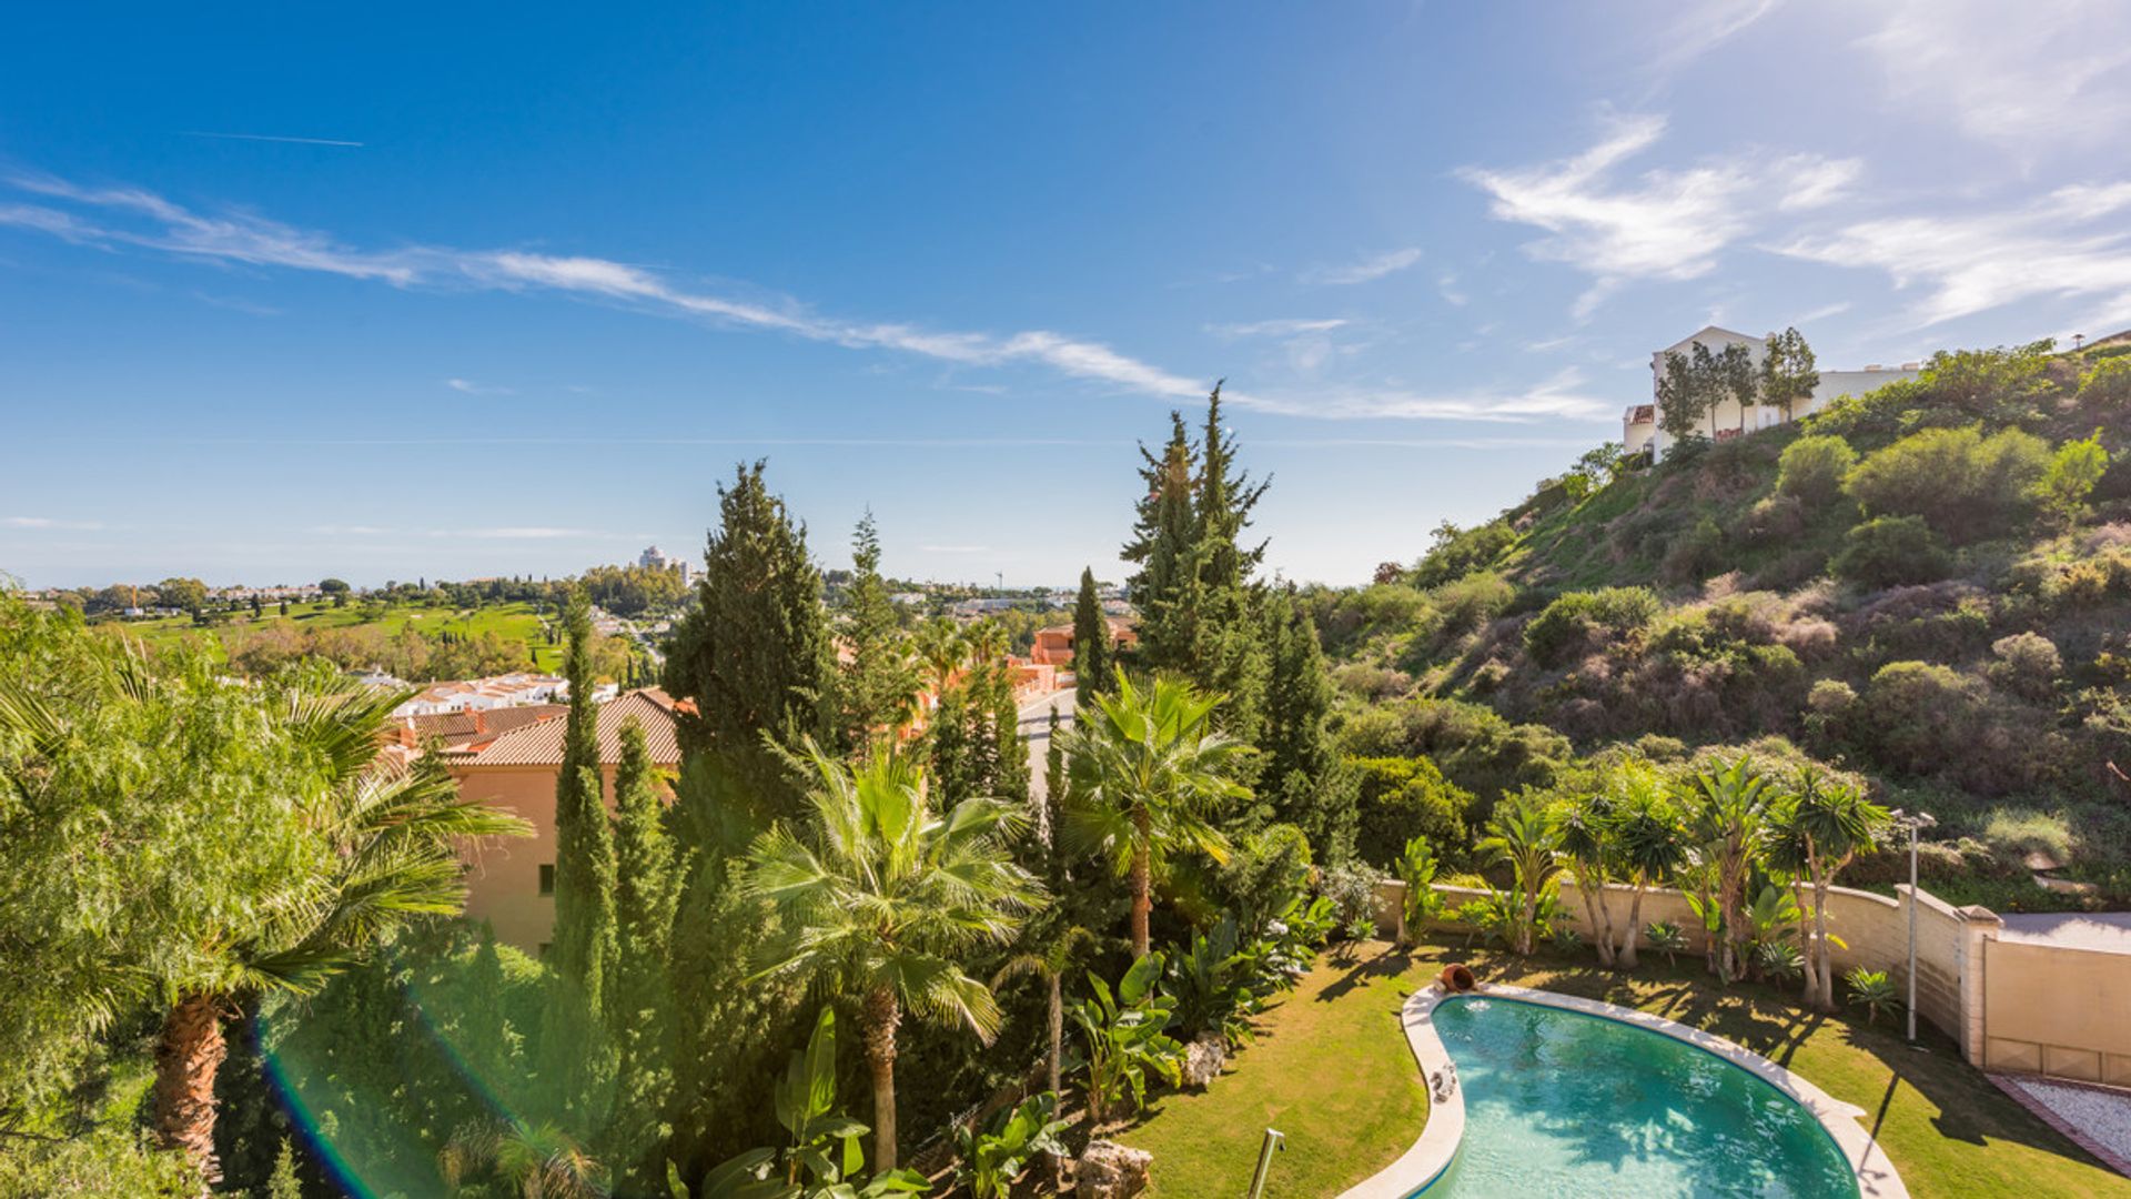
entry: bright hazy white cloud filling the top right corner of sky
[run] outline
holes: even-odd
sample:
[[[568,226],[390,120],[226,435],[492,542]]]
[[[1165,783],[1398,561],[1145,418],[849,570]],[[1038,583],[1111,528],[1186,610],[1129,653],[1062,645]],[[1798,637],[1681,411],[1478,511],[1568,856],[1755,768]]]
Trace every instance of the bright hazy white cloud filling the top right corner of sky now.
[[[2020,158],[2116,145],[2131,119],[2122,0],[1901,0],[1862,45],[1897,98]]]

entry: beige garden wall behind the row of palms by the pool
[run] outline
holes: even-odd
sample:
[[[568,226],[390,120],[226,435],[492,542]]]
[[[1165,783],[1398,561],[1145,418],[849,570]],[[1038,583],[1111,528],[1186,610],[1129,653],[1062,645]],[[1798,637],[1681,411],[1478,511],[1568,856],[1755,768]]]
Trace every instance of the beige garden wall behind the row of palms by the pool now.
[[[1436,883],[1436,892],[1443,892],[1451,909],[1487,894],[1445,883]],[[1907,988],[1912,894],[1907,885],[1897,888],[1897,898],[1850,888],[1828,892],[1828,934],[1837,939],[1837,975],[1850,966],[1865,966],[1886,971],[1888,977]],[[1385,932],[1400,930],[1404,894],[1404,883],[1396,879],[1383,883],[1377,913]],[[1632,898],[1634,890],[1626,885],[1607,885],[1605,890],[1615,939],[1626,930]],[[1583,894],[1568,879],[1562,881],[1562,911],[1568,915],[1568,928],[1585,941],[1596,939]],[[1664,888],[1643,892],[1643,907],[1637,913],[1637,945],[1645,952],[1649,952],[1649,939],[1643,930],[1660,922],[1677,924],[1688,932],[1690,954],[1703,952],[1701,922],[1683,894]],[[1458,924],[1445,924],[1445,928],[1464,930]],[[1916,896],[1916,1013],[1958,1041],[1963,1056],[1978,1065],[1984,1058],[1984,945],[1997,939],[1997,930],[1999,917],[1986,909],[1956,909],[1929,892]],[[2131,956],[2125,956],[2125,962],[2131,964]],[[2131,994],[2131,981],[2118,994]],[[2122,1052],[2131,1054],[2131,1045]]]

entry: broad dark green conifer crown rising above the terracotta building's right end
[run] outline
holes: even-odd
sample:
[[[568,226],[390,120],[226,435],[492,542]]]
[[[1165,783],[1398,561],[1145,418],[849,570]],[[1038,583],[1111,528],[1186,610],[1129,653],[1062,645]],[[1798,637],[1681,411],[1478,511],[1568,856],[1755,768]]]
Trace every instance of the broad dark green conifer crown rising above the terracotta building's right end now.
[[[763,482],[763,463],[739,465],[718,489],[718,529],[703,550],[697,608],[682,619],[665,683],[695,700],[680,717],[684,747],[718,755],[735,779],[733,802],[757,819],[799,809],[780,755],[823,725],[833,661],[820,606],[820,572],[808,559],[806,525]],[[701,838],[716,813],[690,811],[684,834]]]

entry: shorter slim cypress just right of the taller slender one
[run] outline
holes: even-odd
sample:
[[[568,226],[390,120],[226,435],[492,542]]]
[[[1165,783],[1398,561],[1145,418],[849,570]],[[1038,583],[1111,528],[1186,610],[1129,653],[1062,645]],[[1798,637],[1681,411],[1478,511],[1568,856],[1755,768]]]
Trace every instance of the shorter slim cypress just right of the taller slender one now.
[[[663,1180],[661,1114],[673,1090],[673,998],[667,975],[673,909],[680,902],[673,843],[658,800],[661,777],[644,728],[622,725],[614,770],[616,969],[607,988],[607,1030],[620,1050],[616,1109],[605,1135],[612,1165],[646,1193]]]

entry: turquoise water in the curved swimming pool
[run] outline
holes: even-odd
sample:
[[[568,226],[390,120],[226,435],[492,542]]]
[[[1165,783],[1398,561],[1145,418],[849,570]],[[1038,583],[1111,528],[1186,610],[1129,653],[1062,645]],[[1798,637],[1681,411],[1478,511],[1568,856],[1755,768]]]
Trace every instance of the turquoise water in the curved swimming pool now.
[[[1581,1011],[1447,998],[1466,1131],[1426,1199],[1754,1195],[1856,1199],[1835,1139],[1788,1094],[1686,1041]]]

